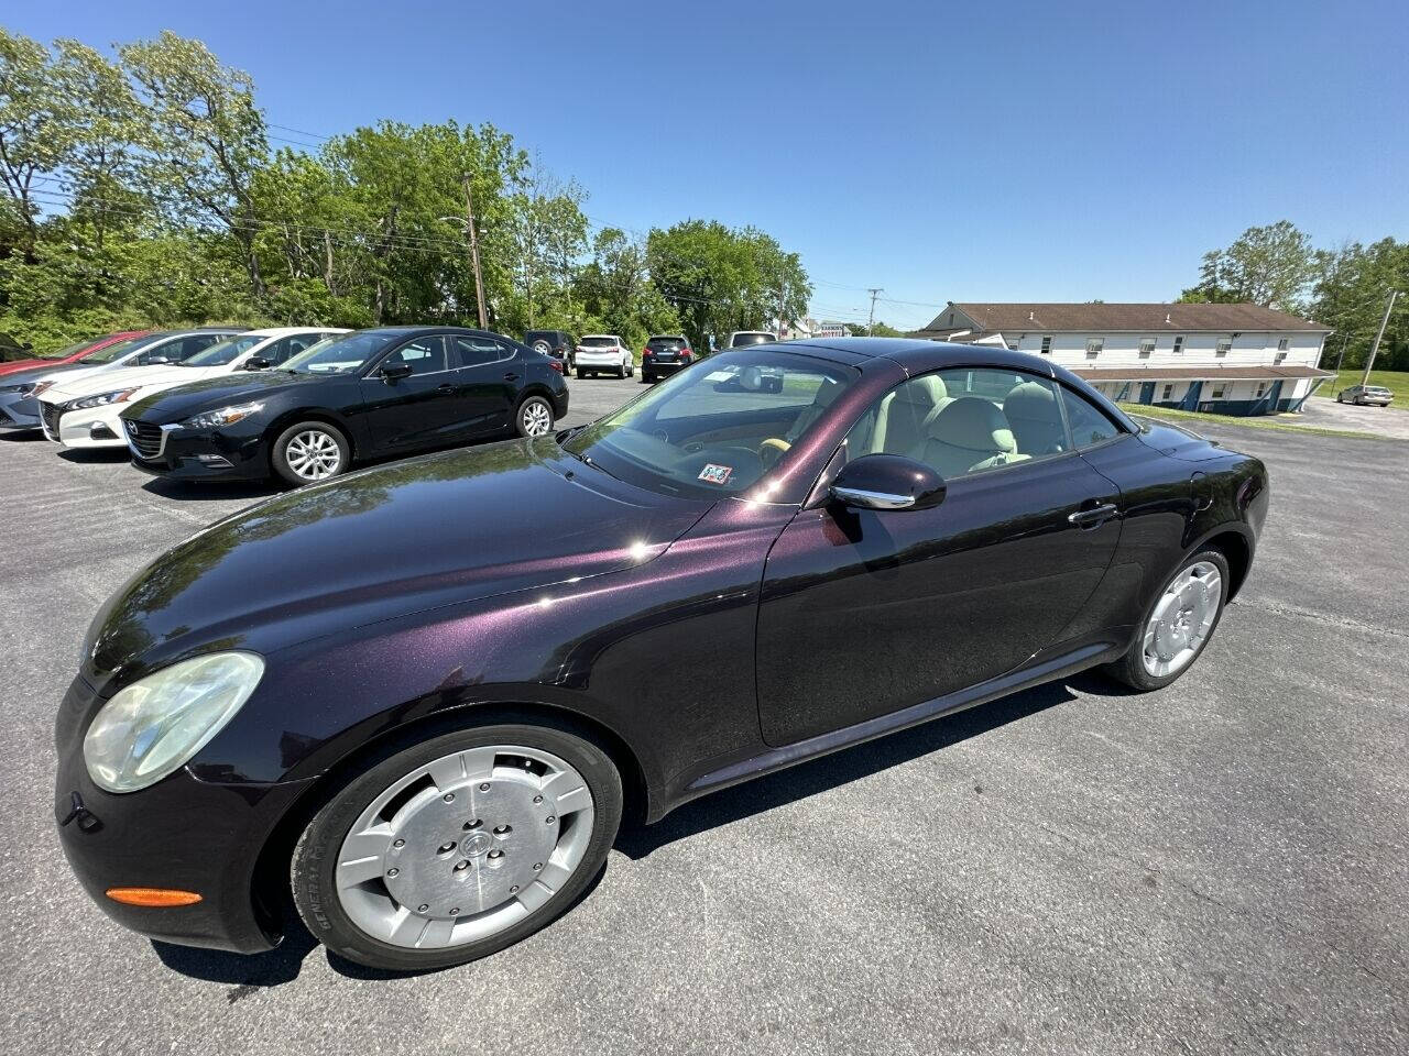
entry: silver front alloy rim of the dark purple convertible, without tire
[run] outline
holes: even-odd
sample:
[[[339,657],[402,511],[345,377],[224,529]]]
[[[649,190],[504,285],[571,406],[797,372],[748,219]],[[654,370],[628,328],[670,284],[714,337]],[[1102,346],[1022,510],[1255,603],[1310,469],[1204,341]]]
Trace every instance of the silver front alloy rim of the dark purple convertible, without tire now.
[[[442,756],[378,794],[337,857],[351,921],[393,946],[458,946],[496,935],[572,877],[592,839],[582,774],[538,748]]]

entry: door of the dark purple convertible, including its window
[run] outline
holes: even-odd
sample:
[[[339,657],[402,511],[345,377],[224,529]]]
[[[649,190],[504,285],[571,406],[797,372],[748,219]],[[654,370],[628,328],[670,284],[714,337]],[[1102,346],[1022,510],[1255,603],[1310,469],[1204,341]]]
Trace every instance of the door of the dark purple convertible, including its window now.
[[[1120,521],[1116,487],[1076,453],[1060,404],[1047,379],[943,370],[858,420],[838,459],[916,458],[947,494],[914,511],[814,504],[783,529],[758,611],[768,743],[976,686],[1062,639]]]

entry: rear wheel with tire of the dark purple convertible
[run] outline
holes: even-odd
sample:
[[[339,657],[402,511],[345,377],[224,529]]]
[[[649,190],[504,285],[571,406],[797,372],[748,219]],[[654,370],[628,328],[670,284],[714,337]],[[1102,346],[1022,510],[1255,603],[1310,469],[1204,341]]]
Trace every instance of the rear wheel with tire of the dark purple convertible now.
[[[1222,552],[1208,549],[1185,558],[1146,608],[1130,650],[1106,665],[1106,673],[1140,691],[1175,681],[1213,638],[1230,583]]]

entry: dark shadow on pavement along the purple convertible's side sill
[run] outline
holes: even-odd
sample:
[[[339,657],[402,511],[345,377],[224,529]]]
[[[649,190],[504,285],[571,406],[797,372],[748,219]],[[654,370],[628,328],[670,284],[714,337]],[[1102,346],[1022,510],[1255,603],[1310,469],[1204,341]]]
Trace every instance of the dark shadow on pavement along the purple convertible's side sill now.
[[[876,741],[704,796],[676,808],[654,825],[640,822],[624,825],[617,836],[616,849],[627,857],[645,857],[657,848],[678,839],[837,788],[1036,715],[1038,711],[1067,704],[1076,700],[1072,689],[1099,697],[1124,696],[1120,687],[1095,672],[1036,686],[948,718],[888,734]]]

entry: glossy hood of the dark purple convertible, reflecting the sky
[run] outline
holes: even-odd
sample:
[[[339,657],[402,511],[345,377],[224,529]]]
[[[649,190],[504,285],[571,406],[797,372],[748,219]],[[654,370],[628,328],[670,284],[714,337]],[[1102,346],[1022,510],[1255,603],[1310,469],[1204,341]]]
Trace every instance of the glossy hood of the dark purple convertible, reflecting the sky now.
[[[193,652],[266,655],[612,573],[658,556],[707,510],[585,467],[552,436],[362,470],[251,507],[154,560],[94,618],[83,674],[106,691]]]

